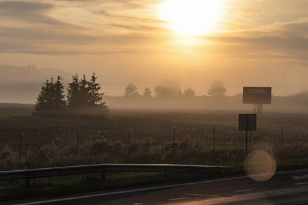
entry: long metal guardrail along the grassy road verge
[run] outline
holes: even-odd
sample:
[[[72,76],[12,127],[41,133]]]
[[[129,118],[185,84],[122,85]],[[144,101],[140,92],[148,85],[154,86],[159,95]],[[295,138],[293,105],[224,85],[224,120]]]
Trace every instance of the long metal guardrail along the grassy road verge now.
[[[79,165],[68,167],[49,167],[40,169],[21,169],[0,172],[0,180],[26,179],[27,185],[30,178],[65,176],[75,174],[91,174],[102,172],[191,172],[209,168],[228,168],[227,166],[202,166],[202,165],[138,165],[138,164],[99,164]]]

